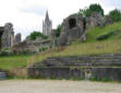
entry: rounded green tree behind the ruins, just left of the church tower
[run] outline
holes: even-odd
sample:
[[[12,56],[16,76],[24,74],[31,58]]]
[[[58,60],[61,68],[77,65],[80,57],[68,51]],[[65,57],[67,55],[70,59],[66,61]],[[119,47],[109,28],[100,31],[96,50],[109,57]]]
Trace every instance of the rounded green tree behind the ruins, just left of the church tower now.
[[[43,33],[36,32],[36,31],[34,31],[33,33],[31,33],[31,35],[27,36],[27,37],[29,37],[32,40],[35,40],[37,37],[41,37],[44,39],[47,38],[47,36],[45,36]]]

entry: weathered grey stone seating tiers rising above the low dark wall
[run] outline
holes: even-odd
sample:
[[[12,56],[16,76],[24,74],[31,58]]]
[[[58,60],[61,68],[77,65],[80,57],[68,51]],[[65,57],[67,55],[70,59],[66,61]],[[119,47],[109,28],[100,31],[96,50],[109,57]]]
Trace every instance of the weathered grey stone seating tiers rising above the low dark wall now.
[[[34,67],[61,66],[121,67],[121,54],[99,56],[51,57],[34,65]]]

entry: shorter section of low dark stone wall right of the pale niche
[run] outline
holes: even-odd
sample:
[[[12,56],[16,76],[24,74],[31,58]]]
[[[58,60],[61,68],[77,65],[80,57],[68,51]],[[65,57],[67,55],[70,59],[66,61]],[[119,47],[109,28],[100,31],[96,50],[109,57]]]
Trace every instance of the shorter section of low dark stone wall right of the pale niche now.
[[[92,75],[98,80],[121,81],[121,68],[93,68]]]

